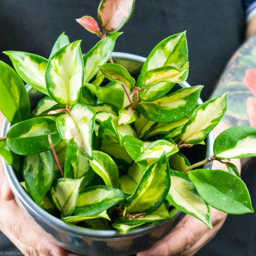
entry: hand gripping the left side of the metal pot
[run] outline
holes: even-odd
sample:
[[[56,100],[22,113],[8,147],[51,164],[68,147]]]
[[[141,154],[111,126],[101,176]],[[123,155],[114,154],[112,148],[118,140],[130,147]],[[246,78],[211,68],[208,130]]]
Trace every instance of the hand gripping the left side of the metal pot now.
[[[0,127],[4,118],[0,112]],[[26,256],[74,256],[57,246],[15,201],[0,159],[0,230]]]

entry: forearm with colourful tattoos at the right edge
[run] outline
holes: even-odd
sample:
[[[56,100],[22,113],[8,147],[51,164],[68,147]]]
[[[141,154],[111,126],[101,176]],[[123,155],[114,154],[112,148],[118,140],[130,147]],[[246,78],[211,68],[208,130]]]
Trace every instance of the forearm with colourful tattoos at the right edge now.
[[[231,58],[213,97],[228,94],[224,120],[228,126],[256,127],[256,36],[249,38]]]

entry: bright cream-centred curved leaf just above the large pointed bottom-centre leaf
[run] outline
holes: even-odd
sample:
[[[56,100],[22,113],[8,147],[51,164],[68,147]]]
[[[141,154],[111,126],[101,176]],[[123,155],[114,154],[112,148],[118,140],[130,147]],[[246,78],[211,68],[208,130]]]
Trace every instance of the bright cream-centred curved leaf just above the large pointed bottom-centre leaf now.
[[[135,161],[145,172],[148,167],[158,161],[164,152],[167,156],[171,156],[178,152],[178,147],[175,143],[168,142],[167,140],[156,140],[147,146]]]

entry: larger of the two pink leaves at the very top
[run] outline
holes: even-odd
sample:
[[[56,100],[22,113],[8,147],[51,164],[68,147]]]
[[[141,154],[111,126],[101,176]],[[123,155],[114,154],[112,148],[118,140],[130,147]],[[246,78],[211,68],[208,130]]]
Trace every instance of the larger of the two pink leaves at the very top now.
[[[108,33],[114,33],[129,20],[135,0],[102,0],[98,7],[98,20]]]

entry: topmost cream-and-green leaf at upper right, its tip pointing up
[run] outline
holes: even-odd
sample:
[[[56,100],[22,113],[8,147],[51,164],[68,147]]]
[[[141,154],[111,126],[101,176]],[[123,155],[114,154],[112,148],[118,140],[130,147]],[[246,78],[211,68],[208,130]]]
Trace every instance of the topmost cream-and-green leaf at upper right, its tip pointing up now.
[[[179,70],[187,61],[188,46],[186,44],[186,32],[184,31],[159,42],[146,58],[141,73],[146,73],[146,71],[161,66],[174,66]]]

